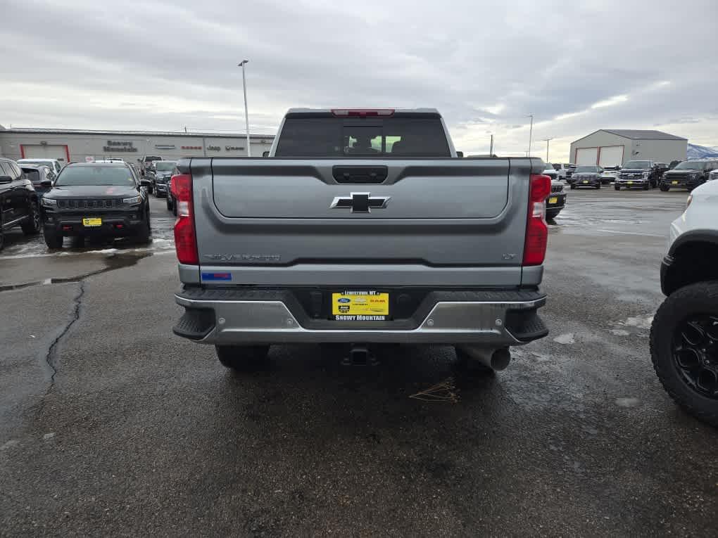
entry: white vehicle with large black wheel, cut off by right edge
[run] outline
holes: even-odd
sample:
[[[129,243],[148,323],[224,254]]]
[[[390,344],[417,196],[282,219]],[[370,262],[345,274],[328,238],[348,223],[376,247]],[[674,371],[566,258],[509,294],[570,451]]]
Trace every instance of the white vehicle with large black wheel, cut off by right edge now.
[[[667,296],[651,326],[651,359],[687,412],[718,427],[718,181],[696,187],[671,224],[661,265]]]

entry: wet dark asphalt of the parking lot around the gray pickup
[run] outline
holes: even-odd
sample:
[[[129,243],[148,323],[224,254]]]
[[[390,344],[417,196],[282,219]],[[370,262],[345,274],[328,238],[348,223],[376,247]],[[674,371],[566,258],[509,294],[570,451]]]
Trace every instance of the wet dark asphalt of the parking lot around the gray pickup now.
[[[347,369],[275,347],[236,376],[180,315],[174,219],[151,245],[10,234],[0,254],[0,534],[711,536],[718,435],[651,367],[685,192],[569,191],[551,334],[495,377],[449,348]],[[409,395],[454,376],[456,403]]]

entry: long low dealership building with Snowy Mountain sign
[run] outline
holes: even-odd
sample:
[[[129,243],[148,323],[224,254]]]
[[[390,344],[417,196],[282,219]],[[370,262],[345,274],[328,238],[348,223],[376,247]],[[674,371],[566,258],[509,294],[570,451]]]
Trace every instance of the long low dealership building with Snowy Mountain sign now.
[[[269,151],[274,135],[250,135],[252,156]],[[245,134],[78,131],[0,127],[0,155],[9,159],[45,158],[62,163],[120,157],[129,163],[144,155],[180,157],[246,156]]]

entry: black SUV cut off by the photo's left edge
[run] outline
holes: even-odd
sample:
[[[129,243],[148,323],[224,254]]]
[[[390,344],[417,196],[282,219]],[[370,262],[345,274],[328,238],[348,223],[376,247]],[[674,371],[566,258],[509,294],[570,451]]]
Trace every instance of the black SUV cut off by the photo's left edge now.
[[[0,250],[6,230],[16,226],[25,235],[39,232],[37,192],[15,161],[0,158]]]

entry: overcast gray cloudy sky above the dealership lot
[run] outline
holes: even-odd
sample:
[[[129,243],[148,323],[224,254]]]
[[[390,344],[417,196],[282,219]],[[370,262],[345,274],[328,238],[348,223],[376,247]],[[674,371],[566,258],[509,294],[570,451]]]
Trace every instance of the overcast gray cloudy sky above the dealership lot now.
[[[0,124],[274,133],[292,106],[439,108],[458,149],[599,128],[718,146],[716,0],[0,0]]]

